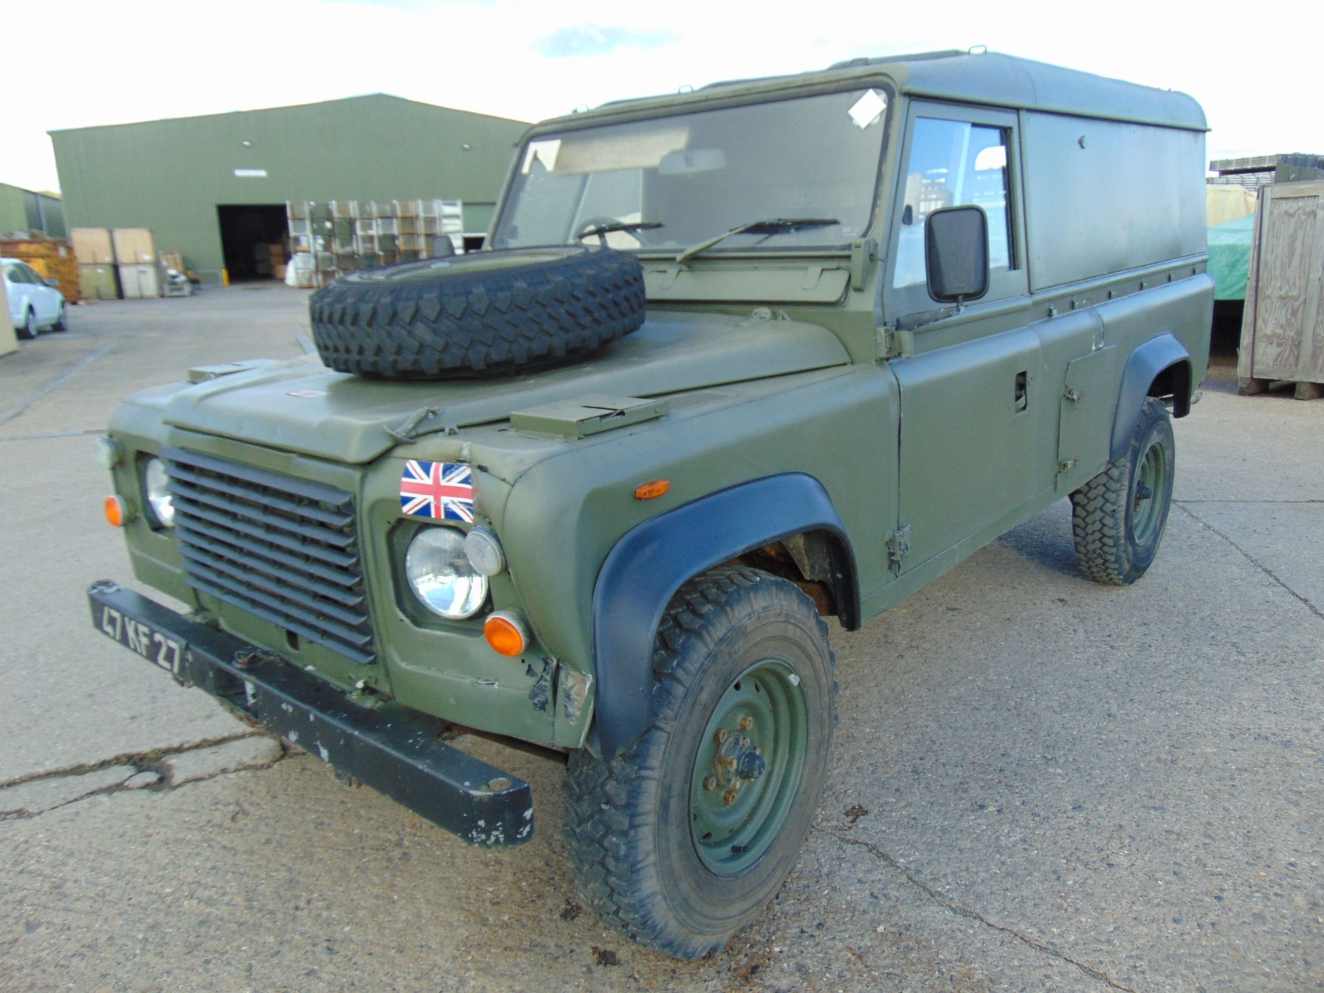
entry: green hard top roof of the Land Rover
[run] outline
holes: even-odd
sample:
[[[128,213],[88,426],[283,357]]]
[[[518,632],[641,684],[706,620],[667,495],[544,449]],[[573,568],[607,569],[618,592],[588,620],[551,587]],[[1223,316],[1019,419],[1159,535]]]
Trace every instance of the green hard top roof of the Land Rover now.
[[[760,79],[731,79],[711,83],[695,93],[647,97],[604,103],[587,117],[629,113],[636,109],[682,106],[780,90],[788,86],[828,82],[835,78],[883,73],[902,93],[914,97],[953,99],[997,107],[1043,110],[1112,120],[1206,131],[1205,111],[1184,93],[1082,73],[1076,69],[1017,58],[997,52],[924,52],[919,54],[854,58],[828,69]],[[583,122],[584,114],[575,115]],[[564,120],[564,118],[563,118]],[[587,122],[584,122],[587,123]]]

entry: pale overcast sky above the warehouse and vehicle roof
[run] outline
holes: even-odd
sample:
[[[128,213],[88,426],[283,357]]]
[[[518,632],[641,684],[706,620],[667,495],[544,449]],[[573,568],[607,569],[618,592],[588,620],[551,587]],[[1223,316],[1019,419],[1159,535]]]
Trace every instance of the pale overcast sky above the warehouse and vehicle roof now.
[[[1184,90],[1213,128],[1209,158],[1324,154],[1319,0],[1280,0],[1254,16],[1218,9],[1189,0],[3,0],[5,64],[23,71],[5,79],[0,181],[57,189],[45,134],[54,128],[361,93],[538,120],[715,79],[972,45]]]

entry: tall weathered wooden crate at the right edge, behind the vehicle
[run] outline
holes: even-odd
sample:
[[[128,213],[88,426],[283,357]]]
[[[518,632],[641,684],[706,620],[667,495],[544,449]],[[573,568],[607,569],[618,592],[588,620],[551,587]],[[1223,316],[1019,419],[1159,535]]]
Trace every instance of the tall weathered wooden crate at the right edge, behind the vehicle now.
[[[1324,384],[1324,181],[1259,191],[1242,316],[1238,388],[1296,384],[1313,399]]]

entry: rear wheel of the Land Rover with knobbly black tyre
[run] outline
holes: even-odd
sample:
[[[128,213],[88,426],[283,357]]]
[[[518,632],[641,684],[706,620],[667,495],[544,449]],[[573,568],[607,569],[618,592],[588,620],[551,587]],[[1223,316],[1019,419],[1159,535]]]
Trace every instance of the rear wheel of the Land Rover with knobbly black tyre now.
[[[1129,585],[1153,564],[1172,506],[1176,458],[1168,408],[1148,397],[1125,453],[1071,494],[1076,559],[1090,579]]]

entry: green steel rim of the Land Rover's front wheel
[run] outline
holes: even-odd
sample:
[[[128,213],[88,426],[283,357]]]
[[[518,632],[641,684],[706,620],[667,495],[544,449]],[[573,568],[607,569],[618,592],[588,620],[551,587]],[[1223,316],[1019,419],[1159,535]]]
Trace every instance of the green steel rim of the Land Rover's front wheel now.
[[[739,875],[772,846],[800,794],[808,743],[809,706],[790,666],[764,659],[731,682],[690,777],[690,838],[710,871]]]

